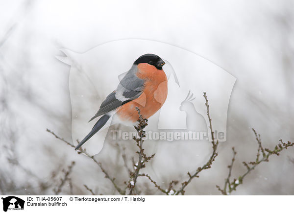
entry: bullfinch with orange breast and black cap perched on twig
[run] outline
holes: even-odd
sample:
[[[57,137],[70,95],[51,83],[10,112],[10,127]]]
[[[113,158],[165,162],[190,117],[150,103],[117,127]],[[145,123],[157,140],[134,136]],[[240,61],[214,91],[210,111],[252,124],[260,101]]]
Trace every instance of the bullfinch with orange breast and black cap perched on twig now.
[[[125,74],[117,89],[101,103],[98,112],[90,121],[102,117],[75,150],[97,133],[110,117],[113,117],[114,123],[134,125],[139,118],[136,107],[141,110],[143,118],[155,114],[168,95],[168,79],[162,70],[163,65],[165,62],[157,55],[140,56]]]

